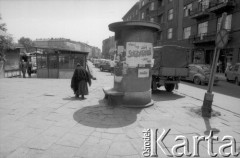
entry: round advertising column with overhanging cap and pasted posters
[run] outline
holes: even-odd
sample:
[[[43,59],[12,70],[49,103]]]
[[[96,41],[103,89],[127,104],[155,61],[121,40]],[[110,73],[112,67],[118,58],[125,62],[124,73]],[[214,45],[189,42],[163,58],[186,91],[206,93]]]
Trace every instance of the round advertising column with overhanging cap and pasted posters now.
[[[114,90],[121,92],[122,105],[145,107],[151,99],[151,65],[154,32],[160,26],[142,21],[116,22],[109,25],[115,32],[116,61]]]

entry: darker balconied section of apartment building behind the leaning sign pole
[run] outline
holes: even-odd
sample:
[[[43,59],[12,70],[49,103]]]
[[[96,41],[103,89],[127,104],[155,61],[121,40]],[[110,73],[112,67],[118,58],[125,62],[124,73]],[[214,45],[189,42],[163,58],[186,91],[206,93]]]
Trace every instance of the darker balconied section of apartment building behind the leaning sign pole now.
[[[220,51],[222,71],[227,63],[240,62],[240,0],[185,0],[184,7],[189,8],[184,28],[191,30],[189,41],[194,46],[194,62],[211,64],[224,12],[227,13],[224,28],[230,38],[226,48]]]

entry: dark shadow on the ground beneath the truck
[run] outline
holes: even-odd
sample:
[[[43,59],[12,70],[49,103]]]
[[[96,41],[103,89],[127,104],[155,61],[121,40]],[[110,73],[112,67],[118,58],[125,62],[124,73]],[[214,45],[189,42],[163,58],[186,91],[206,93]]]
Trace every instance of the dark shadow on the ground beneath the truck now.
[[[168,100],[177,100],[184,98],[185,96],[175,94],[173,92],[167,92],[165,90],[154,90],[152,91],[152,99],[154,101],[168,101]]]

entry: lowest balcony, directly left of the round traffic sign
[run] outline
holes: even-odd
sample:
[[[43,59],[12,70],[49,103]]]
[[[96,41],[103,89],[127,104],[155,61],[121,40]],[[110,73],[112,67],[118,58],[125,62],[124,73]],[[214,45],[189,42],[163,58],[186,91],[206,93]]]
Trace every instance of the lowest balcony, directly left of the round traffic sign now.
[[[193,44],[207,44],[214,43],[216,39],[216,33],[205,33],[200,35],[192,35],[189,37],[189,40]]]

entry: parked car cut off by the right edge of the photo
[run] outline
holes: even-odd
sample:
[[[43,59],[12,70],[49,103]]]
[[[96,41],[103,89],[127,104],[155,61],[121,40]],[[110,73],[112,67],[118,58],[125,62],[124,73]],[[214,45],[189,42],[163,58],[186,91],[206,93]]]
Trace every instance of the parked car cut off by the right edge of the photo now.
[[[230,66],[226,70],[225,76],[227,81],[235,81],[237,85],[240,85],[240,63]]]

